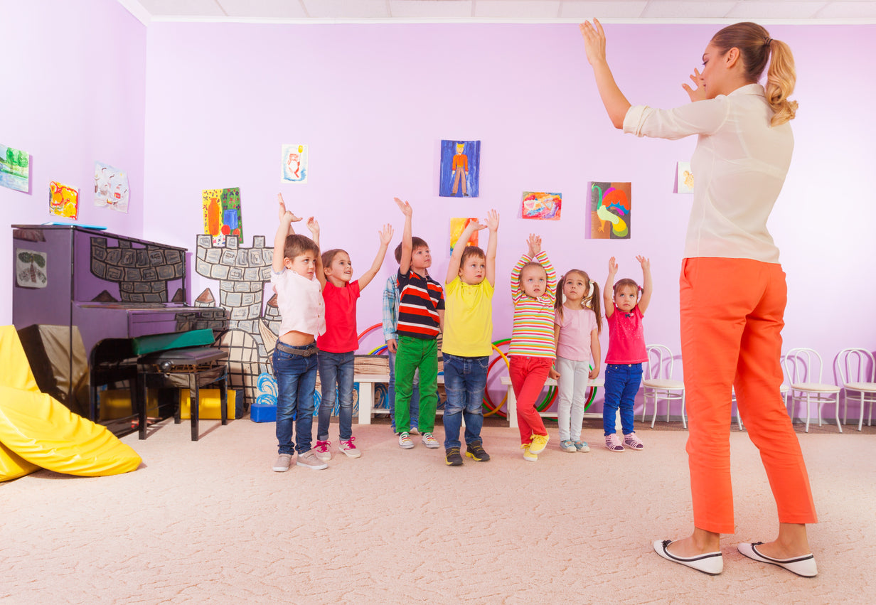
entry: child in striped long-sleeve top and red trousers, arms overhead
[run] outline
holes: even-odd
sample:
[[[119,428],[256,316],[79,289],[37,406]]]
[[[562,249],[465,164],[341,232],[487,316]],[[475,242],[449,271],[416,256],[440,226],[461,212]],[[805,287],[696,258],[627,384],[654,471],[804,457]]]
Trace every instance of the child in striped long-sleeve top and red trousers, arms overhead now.
[[[517,422],[523,459],[534,462],[548,446],[548,431],[535,402],[552,372],[556,356],[554,301],[556,271],[541,250],[541,238],[529,234],[529,250],[511,271],[514,304],[511,345],[511,384],[517,397]]]

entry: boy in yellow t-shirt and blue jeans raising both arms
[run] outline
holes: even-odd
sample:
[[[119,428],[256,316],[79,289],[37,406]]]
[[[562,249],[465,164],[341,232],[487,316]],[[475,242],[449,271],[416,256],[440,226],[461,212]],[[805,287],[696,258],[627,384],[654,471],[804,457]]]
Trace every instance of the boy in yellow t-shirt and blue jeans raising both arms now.
[[[487,251],[465,246],[476,230],[490,228]],[[463,464],[459,453],[459,431],[465,419],[465,455],[483,462],[490,460],[481,440],[484,425],[482,400],[492,353],[492,295],[496,284],[498,212],[487,214],[487,224],[471,221],[459,236],[450,255],[444,321],[444,461],[449,467]]]

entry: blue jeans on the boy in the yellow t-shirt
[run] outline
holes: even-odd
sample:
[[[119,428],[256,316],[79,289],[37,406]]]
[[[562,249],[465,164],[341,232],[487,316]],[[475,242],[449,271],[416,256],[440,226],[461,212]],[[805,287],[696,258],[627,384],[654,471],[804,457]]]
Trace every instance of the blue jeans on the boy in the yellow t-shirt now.
[[[484,357],[460,357],[443,354],[444,391],[444,449],[460,447],[459,429],[465,419],[465,443],[470,445],[481,440],[484,426],[484,389],[487,385],[487,368],[490,355]]]

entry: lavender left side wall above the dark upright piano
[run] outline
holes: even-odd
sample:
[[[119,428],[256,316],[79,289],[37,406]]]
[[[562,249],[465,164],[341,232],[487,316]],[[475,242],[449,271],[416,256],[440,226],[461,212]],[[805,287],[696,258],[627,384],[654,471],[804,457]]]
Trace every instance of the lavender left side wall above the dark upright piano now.
[[[78,223],[142,234],[145,39],[113,0],[0,0],[0,142],[31,154],[31,191],[0,187],[0,324],[12,321],[9,225],[67,222],[49,214],[49,181],[79,189]],[[94,207],[95,160],[128,171],[128,214]]]

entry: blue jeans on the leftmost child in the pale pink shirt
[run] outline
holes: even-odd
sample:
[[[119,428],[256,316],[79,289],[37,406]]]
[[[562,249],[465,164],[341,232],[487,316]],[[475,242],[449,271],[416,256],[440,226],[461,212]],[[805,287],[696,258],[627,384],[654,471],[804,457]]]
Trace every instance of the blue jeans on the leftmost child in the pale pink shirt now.
[[[302,357],[280,350],[273,352],[274,377],[277,379],[277,443],[280,454],[304,454],[310,449],[314,427],[314,388],[316,387],[316,357]],[[283,348],[306,349],[309,347]],[[298,444],[293,443],[295,427]]]

